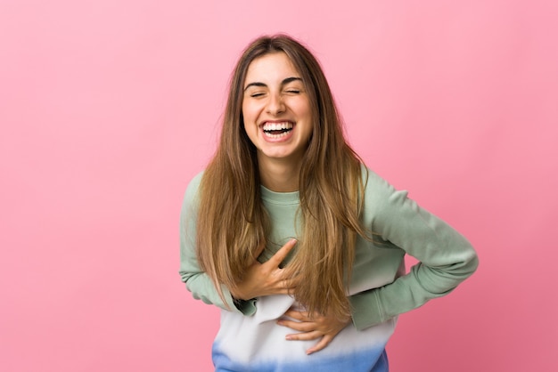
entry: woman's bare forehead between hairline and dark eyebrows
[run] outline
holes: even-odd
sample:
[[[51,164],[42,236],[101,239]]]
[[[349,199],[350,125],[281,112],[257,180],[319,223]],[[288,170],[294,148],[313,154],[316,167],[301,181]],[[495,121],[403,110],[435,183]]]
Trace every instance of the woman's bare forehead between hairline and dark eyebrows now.
[[[300,72],[294,67],[287,54],[267,53],[250,62],[244,85],[253,82],[272,84],[281,82],[286,77],[300,77]]]

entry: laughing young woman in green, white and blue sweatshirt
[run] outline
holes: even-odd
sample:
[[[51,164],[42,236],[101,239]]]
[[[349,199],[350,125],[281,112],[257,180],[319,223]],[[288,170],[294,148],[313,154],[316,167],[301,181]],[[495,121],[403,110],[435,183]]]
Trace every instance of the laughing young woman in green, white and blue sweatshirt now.
[[[420,262],[407,274],[405,254]],[[217,371],[387,371],[398,314],[477,263],[350,149],[307,48],[283,35],[247,47],[217,153],[181,214],[182,280],[222,308]]]

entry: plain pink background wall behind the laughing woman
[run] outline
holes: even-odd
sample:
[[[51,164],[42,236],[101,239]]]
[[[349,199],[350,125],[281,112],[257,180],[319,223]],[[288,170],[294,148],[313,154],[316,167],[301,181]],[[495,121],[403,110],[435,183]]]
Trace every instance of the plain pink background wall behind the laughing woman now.
[[[392,370],[558,370],[556,4],[2,1],[0,370],[212,369],[179,208],[234,61],[277,31],[322,61],[368,166],[480,254],[400,318]]]

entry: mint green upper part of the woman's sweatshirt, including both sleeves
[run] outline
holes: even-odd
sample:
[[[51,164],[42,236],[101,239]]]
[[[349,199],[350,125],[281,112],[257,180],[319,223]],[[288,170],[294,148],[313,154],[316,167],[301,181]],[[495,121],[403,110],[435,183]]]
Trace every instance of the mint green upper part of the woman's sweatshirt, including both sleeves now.
[[[447,295],[476,270],[478,257],[471,244],[446,222],[395,190],[379,175],[363,166],[365,205],[361,221],[383,241],[357,239],[356,258],[349,286],[353,325],[364,330],[393,319],[406,311],[442,295]],[[224,287],[226,303],[217,295],[208,275],[200,270],[195,255],[195,222],[198,174],[190,182],[182,206],[180,222],[180,275],[196,299],[221,309],[253,317],[258,312],[254,299],[233,302]],[[279,247],[297,237],[295,214],[299,193],[277,193],[262,187],[263,204],[270,215],[272,230],[260,261],[266,261]],[[295,247],[296,249],[296,247]],[[296,254],[296,253],[295,253]],[[419,263],[406,273],[404,256]],[[223,327],[223,326],[222,326]]]

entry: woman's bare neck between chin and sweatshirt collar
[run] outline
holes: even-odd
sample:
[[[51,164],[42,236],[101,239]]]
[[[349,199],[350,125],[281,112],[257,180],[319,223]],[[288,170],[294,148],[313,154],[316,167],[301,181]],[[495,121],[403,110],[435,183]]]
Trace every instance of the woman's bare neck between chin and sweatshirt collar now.
[[[300,163],[293,166],[284,160],[258,160],[259,180],[264,187],[275,192],[299,190]]]

